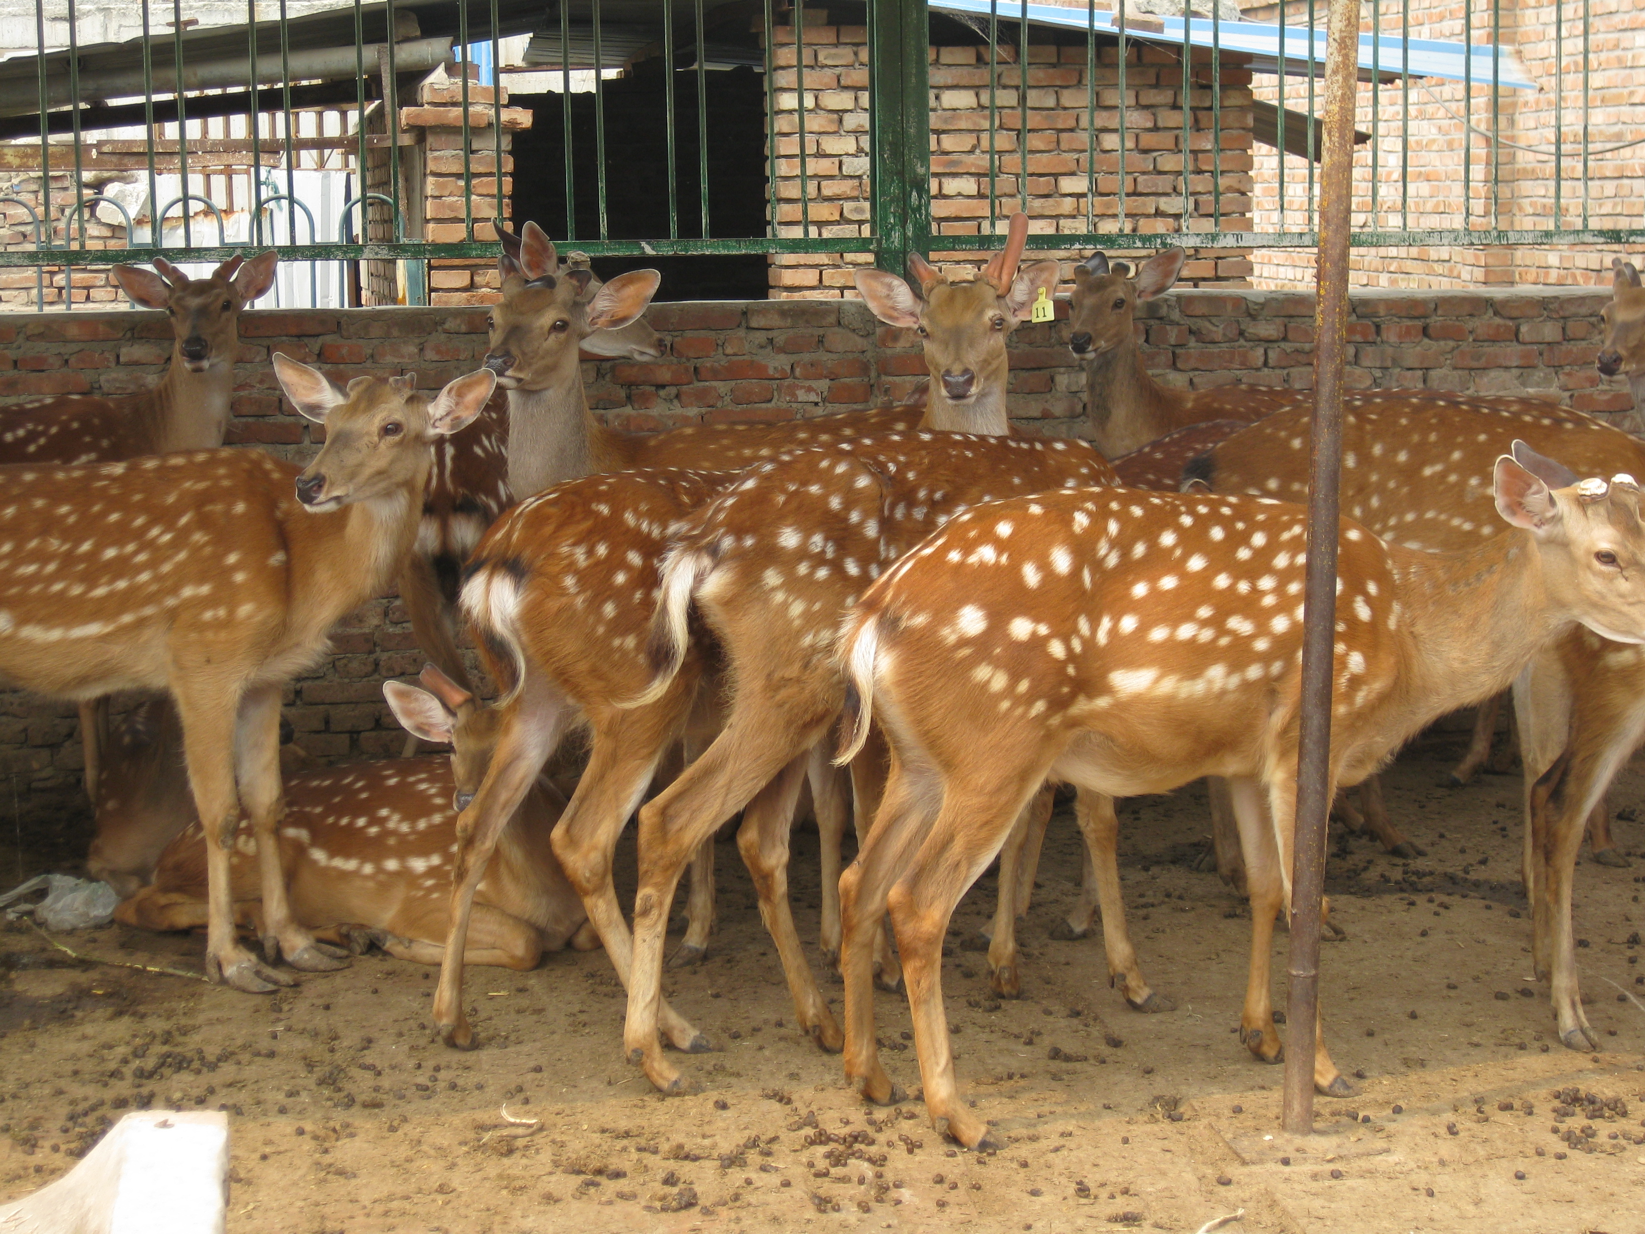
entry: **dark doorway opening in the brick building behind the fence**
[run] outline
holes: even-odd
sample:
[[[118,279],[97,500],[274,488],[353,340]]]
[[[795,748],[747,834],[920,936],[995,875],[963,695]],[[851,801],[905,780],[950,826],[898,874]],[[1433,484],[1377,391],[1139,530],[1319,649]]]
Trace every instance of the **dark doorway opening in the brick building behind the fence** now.
[[[765,81],[739,67],[704,74],[707,110],[709,235],[765,235]],[[637,64],[625,77],[602,84],[605,99],[605,225],[612,240],[668,237],[668,146],[663,61]],[[530,107],[531,127],[513,141],[513,217],[535,220],[563,248],[576,239],[566,225],[566,128],[571,105],[574,234],[600,234],[599,146],[594,94],[533,94],[512,99]],[[674,202],[683,239],[702,237],[697,161],[697,74],[674,72]],[[658,301],[765,299],[770,293],[765,253],[724,257],[600,257],[600,278],[642,268],[660,270]]]

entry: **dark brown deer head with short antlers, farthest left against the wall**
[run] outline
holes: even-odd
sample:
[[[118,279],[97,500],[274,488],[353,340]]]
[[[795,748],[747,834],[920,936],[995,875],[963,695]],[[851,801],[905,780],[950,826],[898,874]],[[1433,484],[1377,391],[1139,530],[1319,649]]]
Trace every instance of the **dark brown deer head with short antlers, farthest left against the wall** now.
[[[189,278],[163,257],[155,270],[117,265],[114,278],[133,304],[160,309],[176,334],[173,360],[191,373],[232,369],[240,354],[240,309],[275,285],[275,252],[230,257],[211,278]],[[158,271],[158,273],[155,273]]]

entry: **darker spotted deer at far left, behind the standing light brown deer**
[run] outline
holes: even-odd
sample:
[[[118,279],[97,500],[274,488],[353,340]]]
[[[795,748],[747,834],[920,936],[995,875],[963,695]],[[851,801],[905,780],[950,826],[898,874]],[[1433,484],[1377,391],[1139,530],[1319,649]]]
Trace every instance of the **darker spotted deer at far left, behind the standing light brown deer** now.
[[[230,257],[211,278],[189,278],[163,257],[155,270],[112,268],[140,308],[171,324],[171,362],[158,383],[130,395],[58,395],[0,408],[0,466],[118,462],[220,446],[229,431],[240,313],[275,285],[276,255]],[[95,801],[109,701],[81,704],[86,795]]]

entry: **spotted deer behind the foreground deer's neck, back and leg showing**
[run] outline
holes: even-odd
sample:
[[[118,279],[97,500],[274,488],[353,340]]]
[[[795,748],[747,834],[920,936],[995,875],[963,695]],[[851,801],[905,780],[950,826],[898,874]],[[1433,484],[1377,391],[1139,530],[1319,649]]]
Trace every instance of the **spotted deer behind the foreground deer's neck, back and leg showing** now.
[[[1342,418],[1342,510],[1403,545],[1461,550],[1489,531],[1489,495],[1467,477],[1520,438],[1582,471],[1645,476],[1645,443],[1581,411],[1522,400],[1351,395]],[[1308,418],[1273,416],[1194,464],[1217,492],[1295,500],[1308,484]],[[1599,808],[1615,768],[1645,734],[1645,658],[1587,632],[1568,635],[1515,683],[1525,762],[1525,890],[1538,977],[1553,977],[1559,1035],[1587,1033],[1576,977],[1571,885],[1584,824],[1597,852],[1614,846]],[[1601,864],[1612,864],[1599,859]]]

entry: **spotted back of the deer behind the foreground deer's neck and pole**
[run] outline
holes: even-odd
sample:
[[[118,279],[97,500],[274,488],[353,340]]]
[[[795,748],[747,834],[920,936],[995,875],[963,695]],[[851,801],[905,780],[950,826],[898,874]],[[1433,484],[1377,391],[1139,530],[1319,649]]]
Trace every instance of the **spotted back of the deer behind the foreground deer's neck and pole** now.
[[[1351,393],[1342,403],[1342,512],[1410,548],[1471,548],[1502,530],[1490,489],[1513,441],[1579,474],[1645,476],[1645,444],[1541,400]],[[1311,413],[1281,411],[1188,467],[1216,492],[1308,500]]]

